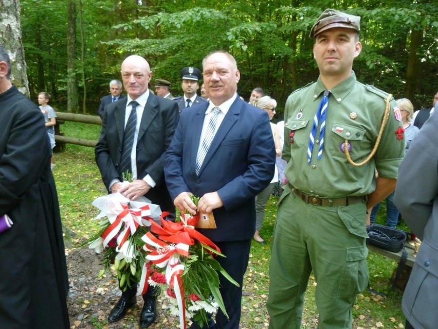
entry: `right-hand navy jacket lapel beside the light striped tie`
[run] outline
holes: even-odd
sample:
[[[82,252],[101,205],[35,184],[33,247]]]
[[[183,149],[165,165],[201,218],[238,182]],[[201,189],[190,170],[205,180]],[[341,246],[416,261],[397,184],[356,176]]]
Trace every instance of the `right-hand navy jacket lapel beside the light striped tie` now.
[[[239,103],[240,101],[241,101],[241,99],[239,98],[239,95],[238,95],[238,97],[232,103],[232,105],[231,105],[230,109],[228,110],[227,114],[225,115],[224,119],[222,120],[221,126],[219,127],[216,134],[214,135],[213,141],[211,141],[210,147],[208,148],[208,151],[207,151],[205,159],[202,163],[202,166],[199,169],[199,175],[204,170],[205,166],[208,164],[210,159],[213,157],[213,154],[217,151],[218,147],[221,145],[221,143],[224,140],[227,133],[230,131],[232,126],[238,120],[238,117],[239,117],[239,114],[240,114],[240,111],[242,108],[242,104]],[[200,133],[199,133],[199,135],[200,135]],[[196,154],[195,154],[195,158],[196,158]],[[196,163],[195,163],[195,165],[196,165]]]

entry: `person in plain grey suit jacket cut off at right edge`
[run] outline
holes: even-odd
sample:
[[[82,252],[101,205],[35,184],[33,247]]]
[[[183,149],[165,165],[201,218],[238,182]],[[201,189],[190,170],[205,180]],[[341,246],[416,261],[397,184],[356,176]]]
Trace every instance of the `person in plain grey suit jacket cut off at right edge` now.
[[[435,110],[437,108],[435,103]],[[398,171],[394,203],[412,232],[422,240],[401,307],[406,329],[435,329],[438,324],[438,114],[430,115],[415,135]],[[421,174],[418,170],[421,168]]]

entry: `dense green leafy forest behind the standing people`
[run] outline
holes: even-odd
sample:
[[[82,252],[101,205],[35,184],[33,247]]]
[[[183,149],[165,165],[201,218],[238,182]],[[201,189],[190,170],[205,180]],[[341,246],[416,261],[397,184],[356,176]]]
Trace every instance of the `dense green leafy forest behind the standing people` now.
[[[18,3],[18,0],[5,0]],[[363,50],[353,70],[359,81],[432,106],[438,91],[437,0],[21,0],[22,40],[30,98],[52,95],[58,111],[97,114],[108,83],[120,79],[129,55],[145,57],[155,79],[202,70],[212,50],[229,51],[249,98],[261,86],[278,101],[318,78],[308,34],[320,13],[335,8],[361,16]],[[1,9],[0,9],[1,11]],[[280,113],[279,113],[280,112]]]

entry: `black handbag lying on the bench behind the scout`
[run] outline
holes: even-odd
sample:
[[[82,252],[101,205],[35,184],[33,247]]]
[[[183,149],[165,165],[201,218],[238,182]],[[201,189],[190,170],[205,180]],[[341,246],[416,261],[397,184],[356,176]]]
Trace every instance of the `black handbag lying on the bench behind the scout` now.
[[[408,233],[379,224],[367,226],[366,243],[391,252],[399,252],[404,246]]]

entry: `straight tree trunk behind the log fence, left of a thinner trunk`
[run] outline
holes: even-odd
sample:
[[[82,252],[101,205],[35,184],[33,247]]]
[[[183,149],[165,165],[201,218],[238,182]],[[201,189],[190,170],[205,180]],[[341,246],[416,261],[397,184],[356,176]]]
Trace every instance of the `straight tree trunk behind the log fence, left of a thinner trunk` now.
[[[67,18],[67,112],[78,111],[78,82],[76,78],[76,3],[68,2]]]

